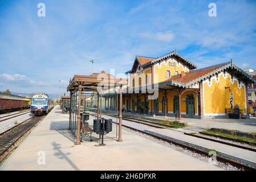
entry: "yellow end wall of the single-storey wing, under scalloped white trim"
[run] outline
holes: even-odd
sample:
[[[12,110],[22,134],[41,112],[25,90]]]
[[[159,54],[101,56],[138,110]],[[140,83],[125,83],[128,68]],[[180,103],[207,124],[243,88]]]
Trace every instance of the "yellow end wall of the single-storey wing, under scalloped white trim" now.
[[[204,85],[204,107],[205,114],[225,114],[225,108],[230,108],[230,92],[225,86],[230,87],[233,93],[233,107],[239,105],[239,109],[243,109],[246,113],[245,85],[241,83],[239,89],[238,81],[234,78],[233,84],[230,82],[231,76],[222,72],[216,81],[216,76],[212,77],[212,85],[209,86],[209,80],[203,82]],[[225,78],[226,77],[226,78]]]

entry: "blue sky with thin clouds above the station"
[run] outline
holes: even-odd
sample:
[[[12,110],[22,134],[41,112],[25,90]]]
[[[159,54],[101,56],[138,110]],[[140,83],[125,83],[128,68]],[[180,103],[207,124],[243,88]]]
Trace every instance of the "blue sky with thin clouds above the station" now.
[[[72,76],[91,74],[90,60],[94,72],[124,73],[135,55],[174,49],[199,68],[255,68],[256,2],[0,1],[0,90],[64,93]]]

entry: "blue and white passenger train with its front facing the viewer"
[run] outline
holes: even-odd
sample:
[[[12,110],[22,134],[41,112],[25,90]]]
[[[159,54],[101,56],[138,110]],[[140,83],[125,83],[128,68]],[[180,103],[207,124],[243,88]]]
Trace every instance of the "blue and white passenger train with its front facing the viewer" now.
[[[31,99],[31,113],[35,115],[44,115],[51,111],[54,107],[54,100],[47,94],[34,94]]]

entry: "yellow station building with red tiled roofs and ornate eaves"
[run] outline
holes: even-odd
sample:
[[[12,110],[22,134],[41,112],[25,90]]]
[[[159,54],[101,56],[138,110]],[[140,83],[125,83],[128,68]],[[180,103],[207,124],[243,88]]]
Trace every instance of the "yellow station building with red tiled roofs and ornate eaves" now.
[[[232,60],[197,69],[176,51],[157,58],[136,56],[127,75],[124,111],[188,118],[224,118],[230,94],[233,108],[246,117],[246,85],[256,82]],[[118,106],[115,97],[105,98],[108,109]]]

